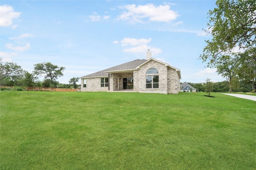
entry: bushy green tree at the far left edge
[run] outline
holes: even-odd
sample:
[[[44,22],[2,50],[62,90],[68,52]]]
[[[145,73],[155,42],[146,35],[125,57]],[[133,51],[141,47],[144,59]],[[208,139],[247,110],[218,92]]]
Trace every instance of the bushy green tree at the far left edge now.
[[[2,63],[0,59],[0,85],[4,86],[20,86],[21,80],[24,78],[25,70],[16,63]]]

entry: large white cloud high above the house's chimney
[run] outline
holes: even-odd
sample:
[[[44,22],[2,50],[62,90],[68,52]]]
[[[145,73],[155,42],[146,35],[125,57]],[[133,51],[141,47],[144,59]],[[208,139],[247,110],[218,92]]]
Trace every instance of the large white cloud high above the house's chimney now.
[[[119,8],[127,11],[123,11],[122,14],[118,16],[118,19],[130,20],[132,23],[143,23],[145,22],[143,19],[157,22],[170,22],[172,20],[176,20],[179,16],[177,12],[170,10],[170,6],[168,4],[164,6],[155,6],[154,4],[136,6],[135,4],[132,4],[120,6]]]

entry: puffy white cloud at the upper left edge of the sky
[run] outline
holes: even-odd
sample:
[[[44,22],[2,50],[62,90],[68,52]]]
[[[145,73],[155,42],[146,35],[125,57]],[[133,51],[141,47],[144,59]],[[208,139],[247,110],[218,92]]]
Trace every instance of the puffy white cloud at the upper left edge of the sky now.
[[[12,6],[4,5],[0,6],[0,26],[11,26],[14,18],[19,18],[21,12],[14,12]],[[13,25],[15,29],[17,25]]]

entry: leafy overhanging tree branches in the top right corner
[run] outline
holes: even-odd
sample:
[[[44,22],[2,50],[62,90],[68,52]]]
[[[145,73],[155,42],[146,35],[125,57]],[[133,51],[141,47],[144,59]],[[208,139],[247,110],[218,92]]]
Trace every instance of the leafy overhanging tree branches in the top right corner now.
[[[217,0],[216,8],[208,12],[206,47],[200,59],[215,66],[223,54],[234,48],[250,50],[256,46],[256,0]]]

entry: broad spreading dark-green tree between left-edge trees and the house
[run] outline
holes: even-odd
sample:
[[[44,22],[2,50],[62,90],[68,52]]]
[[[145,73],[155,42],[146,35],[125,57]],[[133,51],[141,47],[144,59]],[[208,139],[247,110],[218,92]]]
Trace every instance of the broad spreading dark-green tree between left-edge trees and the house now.
[[[38,76],[44,75],[44,79],[48,81],[50,80],[50,84],[56,85],[58,84],[57,79],[58,77],[63,76],[63,71],[65,67],[58,67],[52,63],[39,63],[34,64],[34,74]]]

